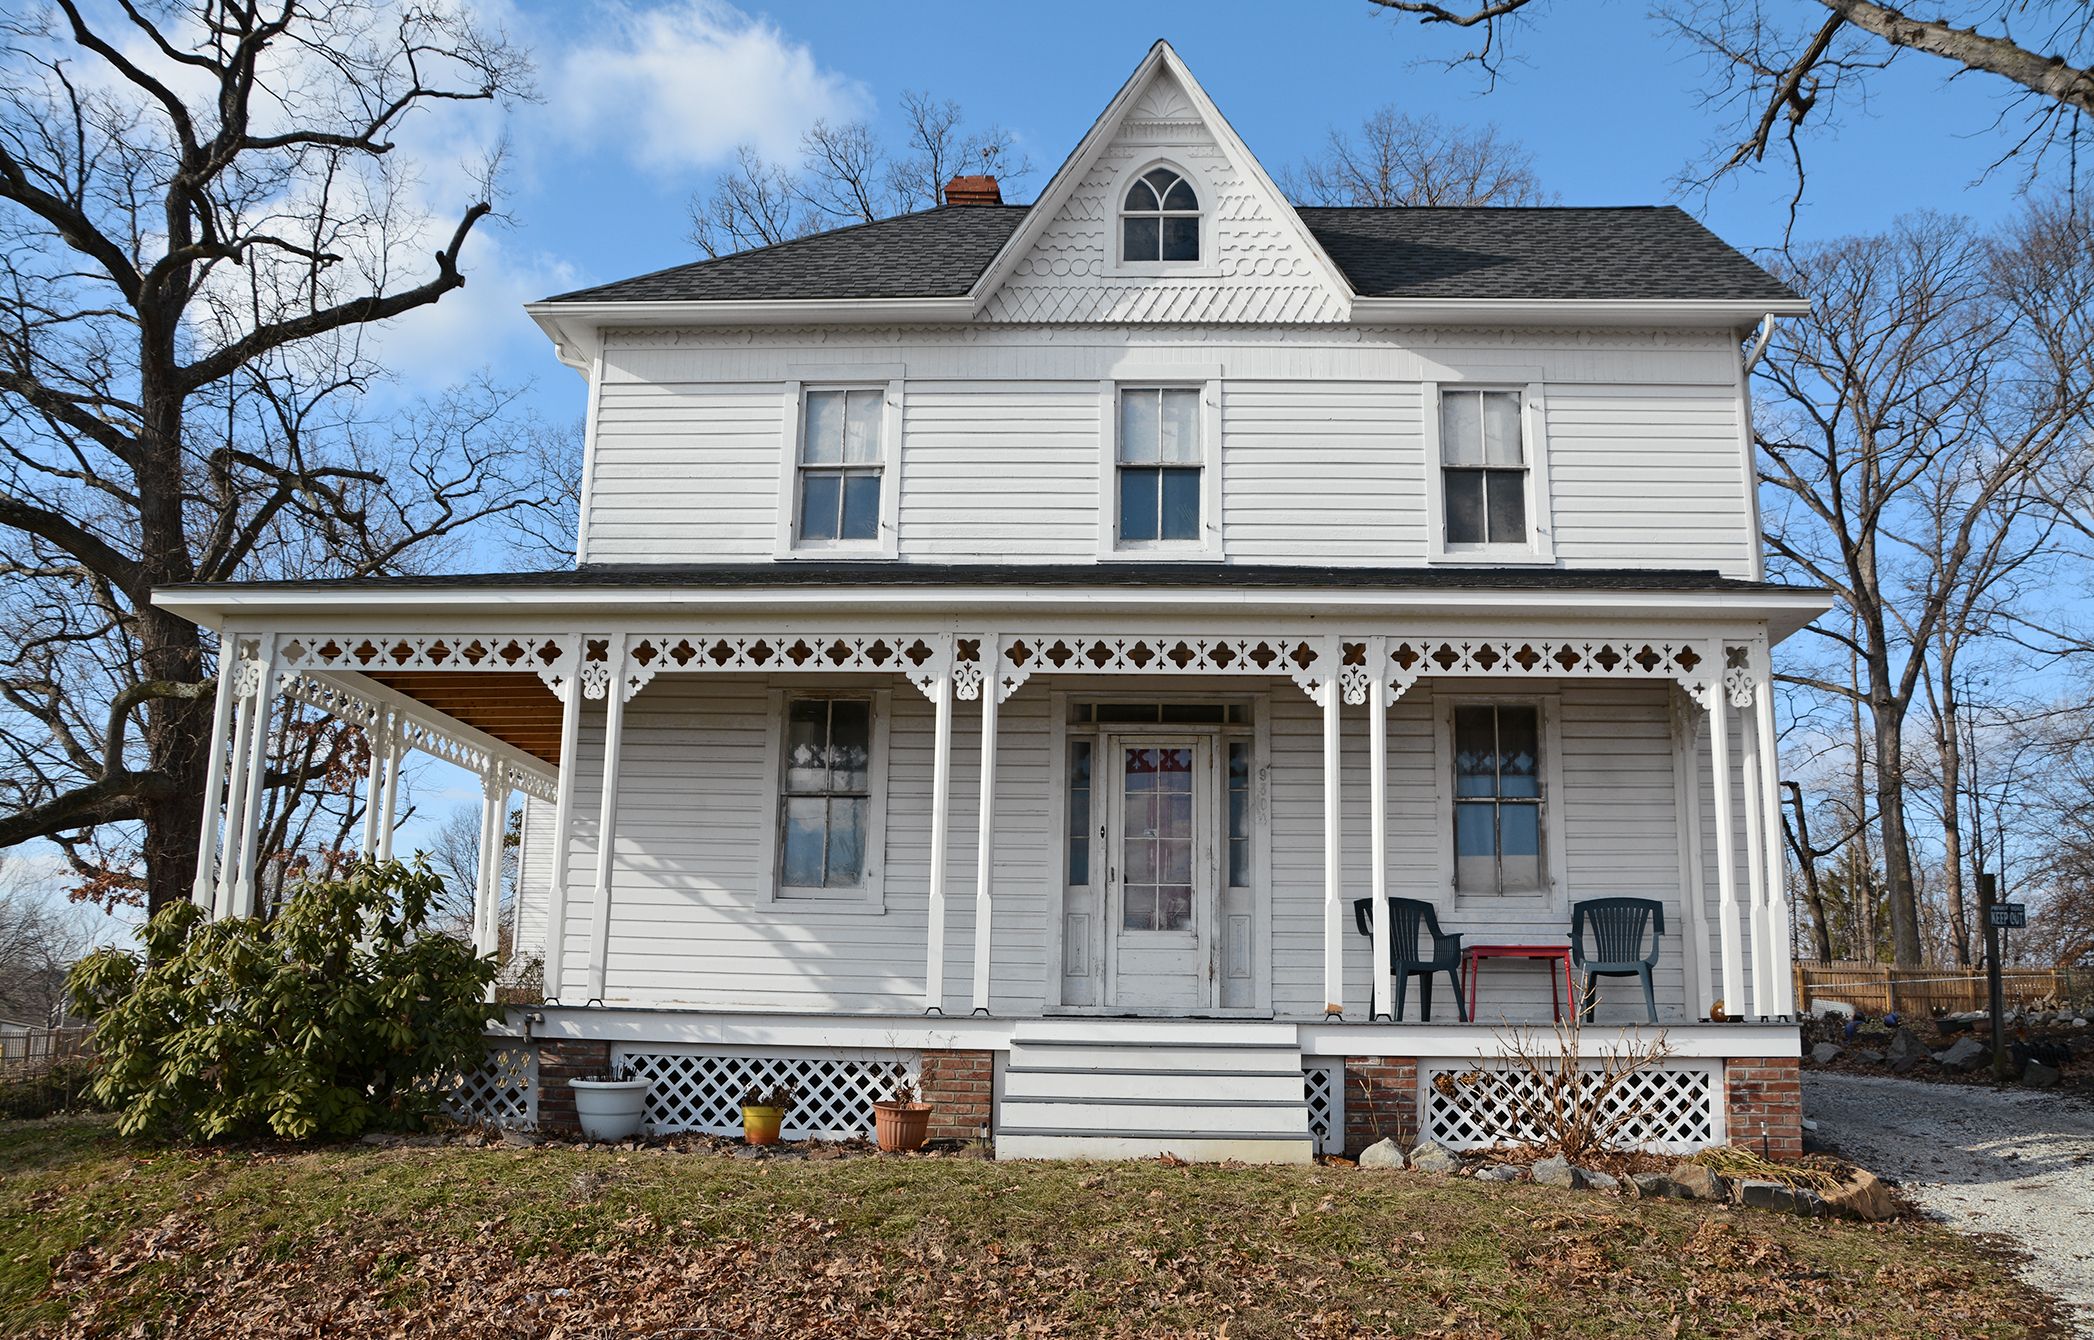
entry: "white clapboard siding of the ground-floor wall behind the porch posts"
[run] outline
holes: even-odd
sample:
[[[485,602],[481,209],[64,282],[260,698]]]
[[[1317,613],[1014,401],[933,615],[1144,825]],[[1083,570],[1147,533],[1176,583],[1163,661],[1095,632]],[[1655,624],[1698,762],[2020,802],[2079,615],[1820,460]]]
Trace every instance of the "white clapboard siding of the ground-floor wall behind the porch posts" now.
[[[804,685],[800,685],[804,689]],[[1037,676],[1003,706],[997,758],[993,995],[997,1013],[1039,1013],[1049,963],[1055,844],[1051,676]],[[1194,685],[1173,685],[1185,691]],[[620,1005],[697,1005],[792,1011],[915,1011],[926,969],[930,886],[932,710],[907,687],[892,693],[888,735],[886,911],[768,902],[773,833],[764,823],[775,779],[764,775],[771,731],[762,676],[660,676],[628,706],[620,783],[605,999]],[[1217,693],[1261,693],[1269,724],[1271,846],[1269,932],[1273,1007],[1282,1018],[1323,1013],[1323,762],[1321,714],[1288,680],[1233,680]],[[1533,687],[1529,687],[1533,691]],[[1432,898],[1447,930],[1470,942],[1560,940],[1568,902],[1638,894],[1667,904],[1661,1009],[1681,1018],[1681,961],[1690,944],[1677,844],[1669,687],[1570,683],[1556,691],[1566,867],[1550,900],[1455,896],[1439,867],[1443,785],[1434,758],[1434,685],[1413,687],[1388,718],[1388,888]],[[980,716],[959,704],[953,731],[951,850],[946,865],[944,1009],[965,1013],[974,967]],[[601,708],[584,714],[576,758],[578,804],[570,863],[563,999],[586,995],[595,798]],[[1344,1009],[1365,1018],[1372,997],[1367,942],[1351,928],[1351,898],[1369,890],[1365,718],[1344,714]],[[540,867],[542,869],[542,867]],[[1713,879],[1711,879],[1713,884]],[[1547,976],[1493,963],[1483,982],[1485,1022],[1545,1018]],[[1445,984],[1434,1018],[1451,1018]],[[1418,1018],[1411,995],[1409,1018]],[[1602,988],[1602,1020],[1633,1020],[1633,984]]]

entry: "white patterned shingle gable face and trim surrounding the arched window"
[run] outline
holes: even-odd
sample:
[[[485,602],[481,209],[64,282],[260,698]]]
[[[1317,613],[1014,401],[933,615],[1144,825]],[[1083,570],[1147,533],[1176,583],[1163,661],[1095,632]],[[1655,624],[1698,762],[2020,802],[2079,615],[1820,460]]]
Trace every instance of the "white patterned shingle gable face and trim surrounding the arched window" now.
[[[1208,147],[1187,155],[1191,140]],[[1183,161],[1206,182],[1200,264],[1175,274],[1129,272],[1118,258],[1118,195],[1127,163]],[[1200,159],[1200,153],[1206,159]],[[1106,253],[1078,255],[1053,237],[1076,218],[1101,230]],[[1254,255],[1223,255],[1219,234],[1263,226]],[[1011,281],[1022,281],[1013,287]],[[1028,281],[1028,283],[1026,283]],[[997,251],[970,299],[976,320],[1011,322],[1344,322],[1355,293],[1279,186],[1171,48],[1156,42],[1091,124],[1068,161]]]

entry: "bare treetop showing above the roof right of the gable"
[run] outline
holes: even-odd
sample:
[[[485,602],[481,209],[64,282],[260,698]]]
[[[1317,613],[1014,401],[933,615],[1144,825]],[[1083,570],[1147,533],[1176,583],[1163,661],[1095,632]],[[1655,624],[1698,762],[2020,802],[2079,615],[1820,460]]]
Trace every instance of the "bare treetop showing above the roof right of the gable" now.
[[[1495,126],[1453,126],[1382,107],[1359,134],[1332,130],[1319,157],[1279,176],[1298,205],[1547,205],[1535,155]]]

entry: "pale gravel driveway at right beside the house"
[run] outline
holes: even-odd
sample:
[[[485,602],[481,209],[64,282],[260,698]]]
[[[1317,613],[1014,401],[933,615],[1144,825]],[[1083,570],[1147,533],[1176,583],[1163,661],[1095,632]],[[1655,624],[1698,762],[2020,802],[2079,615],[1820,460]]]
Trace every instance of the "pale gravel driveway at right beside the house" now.
[[[2094,1110],[2056,1093],[1803,1074],[1818,1139],[1950,1227],[2029,1250],[2023,1277],[2094,1336]]]

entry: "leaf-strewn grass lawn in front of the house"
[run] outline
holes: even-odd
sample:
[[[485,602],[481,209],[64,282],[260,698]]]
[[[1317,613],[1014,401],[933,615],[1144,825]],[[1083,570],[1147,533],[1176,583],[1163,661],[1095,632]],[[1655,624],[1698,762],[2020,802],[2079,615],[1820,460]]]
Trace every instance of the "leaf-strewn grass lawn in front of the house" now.
[[[0,1124],[0,1336],[2042,1336],[1996,1256],[1353,1168],[165,1149]]]

